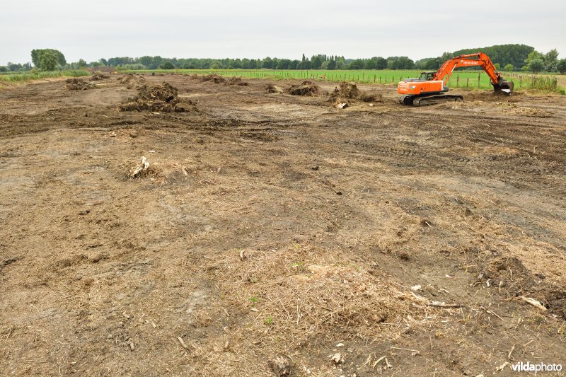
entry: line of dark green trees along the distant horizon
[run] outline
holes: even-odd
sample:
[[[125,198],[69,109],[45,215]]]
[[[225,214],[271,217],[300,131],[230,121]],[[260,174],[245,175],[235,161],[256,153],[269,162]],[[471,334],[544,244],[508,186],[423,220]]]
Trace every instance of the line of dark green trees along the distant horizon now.
[[[543,53],[527,45],[495,45],[444,52],[440,57],[424,58],[416,62],[408,57],[345,59],[343,56],[317,54],[309,58],[303,54],[301,59],[278,59],[277,57],[265,57],[263,59],[178,59],[143,56],[102,58],[90,63],[79,59],[79,62],[68,63],[62,52],[53,49],[40,49],[31,52],[33,66],[29,62],[25,64],[8,63],[6,66],[0,66],[0,72],[29,71],[34,68],[44,71],[96,69],[100,66],[113,66],[118,69],[422,69],[434,71],[451,57],[478,51],[487,54],[499,70],[566,73],[566,59],[559,60],[556,49]]]

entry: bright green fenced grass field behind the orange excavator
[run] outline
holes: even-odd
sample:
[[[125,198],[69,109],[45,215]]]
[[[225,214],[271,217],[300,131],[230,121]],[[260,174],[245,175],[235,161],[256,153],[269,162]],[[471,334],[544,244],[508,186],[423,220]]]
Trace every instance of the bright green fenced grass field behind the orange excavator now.
[[[357,83],[381,83],[396,86],[403,79],[418,77],[420,71],[367,71],[367,70],[279,70],[279,69],[154,69],[123,71],[132,73],[162,73],[162,74],[218,74],[221,76],[240,76],[243,78],[265,78],[265,79],[318,79],[326,81],[354,81]],[[503,76],[515,83],[515,88],[533,88],[533,78],[531,75],[524,75],[520,72],[507,73]],[[555,83],[555,77],[549,76],[548,83],[545,83],[541,90],[563,91]],[[554,82],[554,84],[553,84]],[[541,86],[540,81],[536,82]],[[490,89],[490,78],[484,71],[454,71],[449,86],[453,88],[479,88]]]

